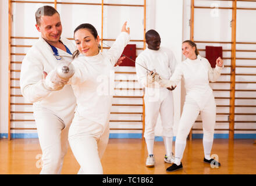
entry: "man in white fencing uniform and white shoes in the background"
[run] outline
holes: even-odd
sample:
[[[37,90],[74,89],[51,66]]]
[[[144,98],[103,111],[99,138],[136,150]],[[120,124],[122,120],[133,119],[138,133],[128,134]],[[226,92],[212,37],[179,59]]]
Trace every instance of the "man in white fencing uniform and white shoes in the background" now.
[[[154,139],[155,126],[160,113],[163,127],[163,143],[166,155],[164,161],[173,163],[172,140],[173,140],[173,89],[166,89],[159,85],[159,78],[170,78],[176,66],[173,52],[168,48],[160,47],[161,38],[155,30],[149,30],[145,34],[148,48],[138,55],[136,63],[152,70],[147,72],[143,67],[136,64],[138,81],[145,87],[145,132],[144,138],[148,149],[147,167],[154,167]]]

